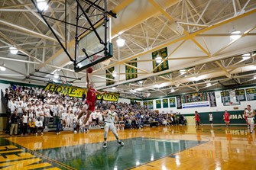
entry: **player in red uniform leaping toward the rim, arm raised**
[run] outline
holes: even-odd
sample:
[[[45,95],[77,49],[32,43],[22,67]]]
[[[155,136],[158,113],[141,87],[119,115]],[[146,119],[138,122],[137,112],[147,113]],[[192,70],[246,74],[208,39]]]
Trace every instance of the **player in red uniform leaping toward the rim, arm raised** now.
[[[79,119],[80,117],[83,116],[83,114],[86,113],[86,118],[84,120],[84,124],[87,123],[87,121],[89,120],[90,115],[92,114],[92,112],[95,109],[95,102],[96,102],[96,95],[103,95],[106,93],[106,91],[104,92],[99,92],[96,89],[93,88],[92,82],[89,82],[89,75],[88,75],[88,70],[86,71],[86,81],[87,81],[87,96],[86,96],[86,103],[83,107],[83,110],[80,112],[79,116],[77,117],[77,119]]]

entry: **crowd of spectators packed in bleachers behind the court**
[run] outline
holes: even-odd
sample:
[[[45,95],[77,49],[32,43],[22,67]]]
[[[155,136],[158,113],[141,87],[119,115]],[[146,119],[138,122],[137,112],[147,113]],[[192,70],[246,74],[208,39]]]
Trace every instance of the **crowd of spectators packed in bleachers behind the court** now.
[[[60,127],[70,128],[75,133],[87,132],[92,128],[103,127],[103,111],[109,108],[109,101],[97,101],[96,111],[93,112],[87,124],[83,124],[85,115],[77,120],[79,112],[83,108],[82,98],[72,98],[58,92],[44,91],[43,88],[24,87],[11,85],[5,89],[5,101],[10,113],[10,135],[44,134],[49,129],[49,120],[57,126],[57,134]],[[138,129],[152,121],[163,125],[185,124],[185,118],[175,114],[163,115],[156,111],[141,107],[139,104],[116,103],[116,112],[119,120],[115,126],[118,130]],[[59,128],[59,130],[58,130]]]

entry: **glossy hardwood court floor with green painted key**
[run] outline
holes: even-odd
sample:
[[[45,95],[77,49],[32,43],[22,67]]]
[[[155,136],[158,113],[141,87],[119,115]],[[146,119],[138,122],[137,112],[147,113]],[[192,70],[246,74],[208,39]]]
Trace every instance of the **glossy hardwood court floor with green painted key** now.
[[[109,132],[0,138],[1,169],[256,169],[255,133],[246,127],[144,127]]]

